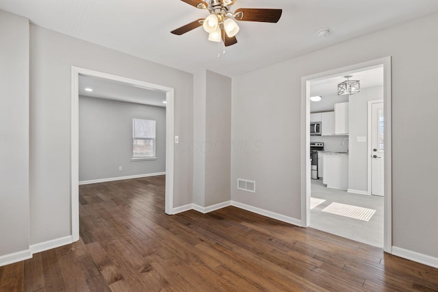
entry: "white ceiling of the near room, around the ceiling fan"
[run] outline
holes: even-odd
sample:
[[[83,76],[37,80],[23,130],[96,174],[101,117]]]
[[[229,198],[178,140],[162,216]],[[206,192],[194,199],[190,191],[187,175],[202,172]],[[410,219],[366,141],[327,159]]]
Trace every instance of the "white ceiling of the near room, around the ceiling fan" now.
[[[282,8],[279,23],[240,21],[237,44],[218,55],[202,27],[170,31],[205,18],[179,0],[0,0],[0,9],[32,23],[186,72],[229,77],[438,12],[437,0],[237,0],[237,8]],[[320,38],[315,32],[329,27]]]

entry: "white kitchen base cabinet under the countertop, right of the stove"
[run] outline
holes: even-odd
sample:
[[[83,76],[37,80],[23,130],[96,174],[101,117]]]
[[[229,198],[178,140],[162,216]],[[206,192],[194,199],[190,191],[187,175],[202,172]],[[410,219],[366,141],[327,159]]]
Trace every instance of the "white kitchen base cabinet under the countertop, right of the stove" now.
[[[348,189],[348,154],[324,153],[322,182],[333,189]]]

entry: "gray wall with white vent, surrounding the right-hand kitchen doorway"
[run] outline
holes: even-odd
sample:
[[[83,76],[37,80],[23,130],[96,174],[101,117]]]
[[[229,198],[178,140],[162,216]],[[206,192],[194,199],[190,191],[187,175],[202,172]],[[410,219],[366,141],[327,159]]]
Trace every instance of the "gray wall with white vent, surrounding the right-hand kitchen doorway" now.
[[[438,143],[424,127],[438,124],[437,94],[418,86],[438,78],[437,23],[433,14],[234,78],[232,138],[263,147],[232,153],[231,181],[257,181],[256,195],[233,188],[232,200],[300,219],[301,77],[391,55],[393,245],[438,257],[438,157],[412,155],[419,141]]]

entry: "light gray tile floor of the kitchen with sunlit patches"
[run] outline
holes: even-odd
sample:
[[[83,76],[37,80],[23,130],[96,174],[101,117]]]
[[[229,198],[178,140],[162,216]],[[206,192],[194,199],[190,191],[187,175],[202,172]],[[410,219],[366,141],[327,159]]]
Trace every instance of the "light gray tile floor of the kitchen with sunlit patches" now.
[[[350,194],[330,189],[322,180],[311,179],[311,197],[326,200],[310,210],[310,227],[383,248],[383,197]],[[370,221],[322,212],[332,202],[376,210]]]

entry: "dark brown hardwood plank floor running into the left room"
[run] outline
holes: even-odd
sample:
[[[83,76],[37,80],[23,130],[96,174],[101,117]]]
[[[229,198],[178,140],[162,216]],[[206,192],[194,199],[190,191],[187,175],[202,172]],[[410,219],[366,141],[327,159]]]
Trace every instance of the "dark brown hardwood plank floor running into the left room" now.
[[[312,228],[166,215],[164,180],[82,185],[81,240],[0,267],[0,291],[438,291],[438,269]]]

